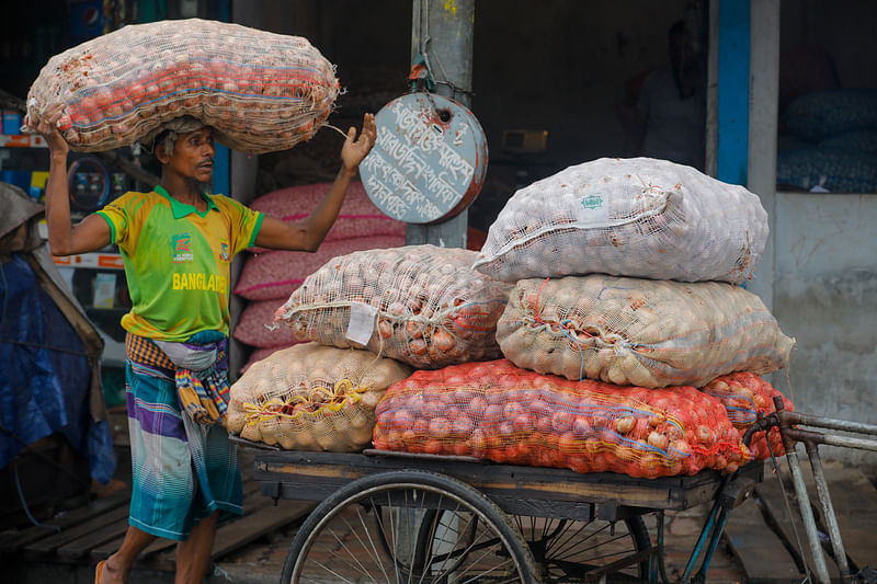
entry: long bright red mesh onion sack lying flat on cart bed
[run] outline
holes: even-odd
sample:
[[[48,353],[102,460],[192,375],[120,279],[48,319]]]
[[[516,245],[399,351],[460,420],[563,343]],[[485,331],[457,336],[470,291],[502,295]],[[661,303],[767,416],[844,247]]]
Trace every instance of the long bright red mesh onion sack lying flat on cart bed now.
[[[376,448],[631,477],[732,472],[750,458],[718,400],[570,381],[511,362],[415,371],[375,411]]]

